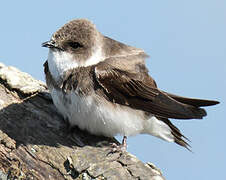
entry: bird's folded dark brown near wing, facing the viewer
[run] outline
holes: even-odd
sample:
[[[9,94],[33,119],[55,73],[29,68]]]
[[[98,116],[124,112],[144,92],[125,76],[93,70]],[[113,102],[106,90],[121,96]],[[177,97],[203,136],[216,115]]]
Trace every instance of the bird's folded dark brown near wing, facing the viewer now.
[[[164,118],[201,119],[204,109],[176,101],[156,88],[145,73],[131,73],[107,63],[95,67],[95,78],[109,99]]]

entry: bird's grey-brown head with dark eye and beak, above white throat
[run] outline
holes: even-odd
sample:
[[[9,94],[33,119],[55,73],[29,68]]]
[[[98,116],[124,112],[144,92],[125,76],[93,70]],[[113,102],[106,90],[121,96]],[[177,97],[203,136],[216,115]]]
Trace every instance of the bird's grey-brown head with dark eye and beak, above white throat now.
[[[57,30],[50,41],[42,44],[53,51],[73,54],[76,61],[87,60],[100,47],[103,36],[87,19],[76,19]]]

